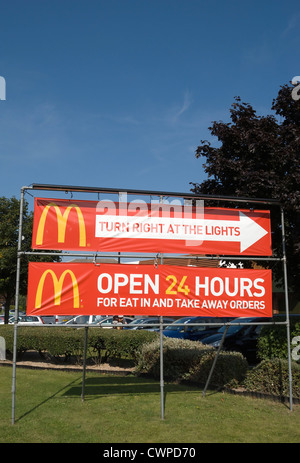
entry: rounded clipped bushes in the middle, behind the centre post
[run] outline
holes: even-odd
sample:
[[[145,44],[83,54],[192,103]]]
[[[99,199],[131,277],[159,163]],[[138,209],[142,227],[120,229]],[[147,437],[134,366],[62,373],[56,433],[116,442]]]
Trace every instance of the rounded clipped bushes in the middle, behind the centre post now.
[[[216,350],[200,342],[165,338],[163,343],[163,374],[169,381],[205,384]],[[246,359],[238,352],[221,352],[210,385],[222,387],[227,383],[240,382],[248,369]],[[137,374],[159,378],[160,343],[155,340],[141,347],[136,366]]]

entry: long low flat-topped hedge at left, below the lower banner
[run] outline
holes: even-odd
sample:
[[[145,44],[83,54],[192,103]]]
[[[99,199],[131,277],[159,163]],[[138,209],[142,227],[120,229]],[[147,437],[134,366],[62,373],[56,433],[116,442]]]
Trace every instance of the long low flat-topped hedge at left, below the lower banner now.
[[[0,336],[6,342],[6,349],[13,352],[14,332],[12,325],[0,325]],[[90,327],[87,349],[95,362],[111,358],[125,357],[135,360],[136,352],[144,343],[149,343],[159,335],[146,330],[114,330]],[[51,359],[69,360],[75,357],[82,361],[85,330],[67,327],[18,327],[17,354],[20,359],[26,351],[34,350]]]

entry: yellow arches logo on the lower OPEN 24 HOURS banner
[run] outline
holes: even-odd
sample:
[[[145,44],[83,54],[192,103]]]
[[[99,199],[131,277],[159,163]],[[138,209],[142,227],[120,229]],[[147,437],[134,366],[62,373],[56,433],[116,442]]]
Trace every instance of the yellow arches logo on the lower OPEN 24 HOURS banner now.
[[[72,279],[72,286],[73,286],[73,300],[74,300],[74,308],[79,308],[79,289],[77,279],[72,272],[72,270],[65,270],[60,278],[57,278],[54,271],[51,269],[45,270],[43,275],[40,278],[36,297],[35,297],[35,308],[40,309],[42,306],[42,293],[44,288],[44,283],[47,275],[52,277],[53,286],[54,286],[54,305],[60,305],[61,303],[61,293],[62,293],[62,286],[65,280],[66,275],[70,275]]]

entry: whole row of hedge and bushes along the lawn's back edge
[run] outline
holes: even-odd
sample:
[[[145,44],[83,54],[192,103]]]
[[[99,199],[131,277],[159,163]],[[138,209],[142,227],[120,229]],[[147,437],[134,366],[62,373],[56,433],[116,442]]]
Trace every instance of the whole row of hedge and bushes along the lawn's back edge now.
[[[299,323],[295,329],[299,330]],[[265,329],[264,329],[265,330]],[[274,331],[276,330],[276,331]],[[299,331],[291,331],[299,335]],[[71,357],[82,362],[85,330],[67,327],[18,327],[17,353],[21,358],[26,351],[37,351],[51,360],[67,361]],[[8,352],[13,351],[13,325],[0,325]],[[286,355],[286,327],[266,328],[260,338],[260,352],[265,356]],[[159,334],[147,330],[113,330],[90,327],[88,330],[88,357],[101,363],[112,358],[130,358],[137,375],[160,377]],[[164,378],[167,381],[205,384],[216,350],[200,342],[175,338],[163,340]],[[292,362],[293,397],[300,399],[300,365]],[[284,397],[289,395],[288,362],[285,359],[265,359],[249,369],[246,359],[238,352],[219,354],[210,386],[224,387],[239,384],[249,392]]]

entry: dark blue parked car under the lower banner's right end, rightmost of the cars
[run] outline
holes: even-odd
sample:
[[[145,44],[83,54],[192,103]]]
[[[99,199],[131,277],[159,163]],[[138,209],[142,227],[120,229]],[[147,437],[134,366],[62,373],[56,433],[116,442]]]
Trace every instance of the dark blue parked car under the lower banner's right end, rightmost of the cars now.
[[[224,338],[222,350],[240,352],[248,360],[250,364],[256,364],[259,360],[257,358],[257,339],[259,333],[264,325],[257,325],[256,323],[274,321],[272,318],[267,317],[253,317],[253,318],[237,318],[233,322],[241,323],[255,323],[254,325],[232,325],[229,326],[226,336]],[[212,336],[206,337],[201,342],[209,344],[215,348],[220,346],[223,333],[226,327],[222,326],[217,333]]]

